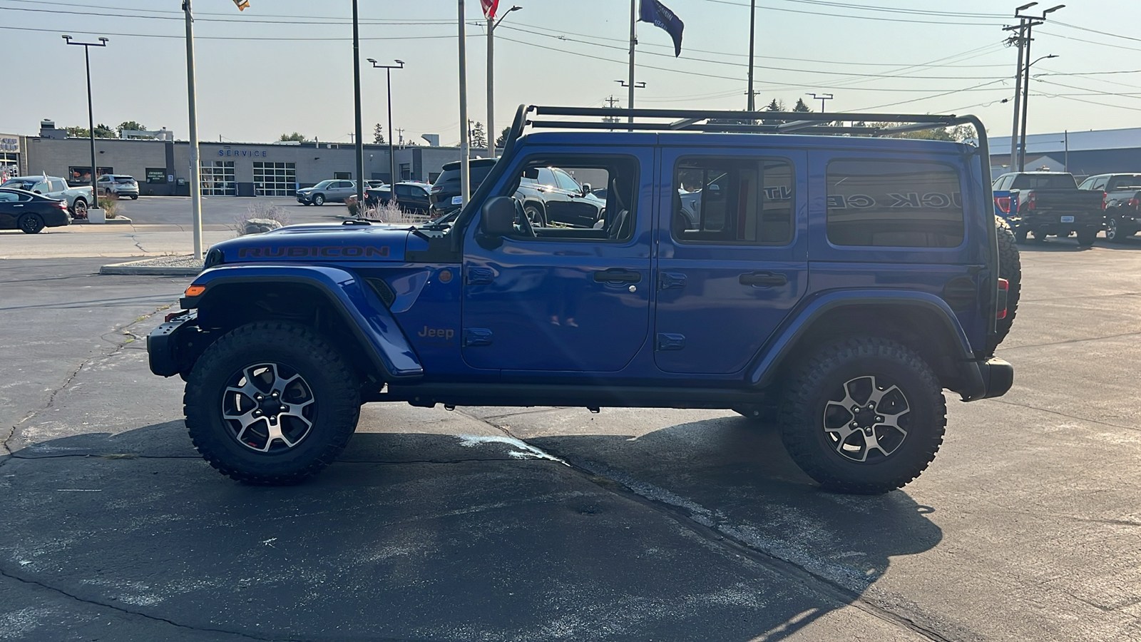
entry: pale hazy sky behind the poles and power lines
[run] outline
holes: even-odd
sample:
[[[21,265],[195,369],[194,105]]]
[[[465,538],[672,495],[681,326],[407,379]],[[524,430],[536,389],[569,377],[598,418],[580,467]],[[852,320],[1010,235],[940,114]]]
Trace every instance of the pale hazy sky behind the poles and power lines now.
[[[744,109],[750,0],[664,0],[685,22],[682,51],[639,23],[636,106]],[[826,111],[974,113],[992,136],[1011,131],[1017,48],[1004,46],[1015,2],[994,0],[756,0],[758,107],[791,107],[832,94]],[[354,131],[349,0],[194,0],[199,131],[202,141],[268,142],[299,131],[350,141]],[[523,8],[495,30],[495,129],[519,104],[625,106],[616,80],[628,73],[626,0],[515,0]],[[487,122],[486,23],[466,2],[468,115]],[[1036,14],[1053,2],[1027,10]],[[501,2],[502,11],[512,2]],[[91,49],[97,123],[135,120],[187,138],[185,24],[180,0],[0,0],[7,87],[0,131],[34,135],[41,119],[87,127],[83,51]],[[385,72],[391,73],[393,126],[405,139],[439,134],[458,144],[456,0],[361,0],[363,120],[366,139],[387,136]],[[1141,2],[1071,0],[1035,29],[1028,131],[1141,127]],[[1122,31],[1123,35],[1111,35]],[[1128,34],[1135,34],[1128,35]],[[17,53],[17,54],[14,54]],[[11,73],[11,69],[26,67]],[[1003,103],[1003,99],[1008,99]],[[419,141],[422,143],[422,141]]]

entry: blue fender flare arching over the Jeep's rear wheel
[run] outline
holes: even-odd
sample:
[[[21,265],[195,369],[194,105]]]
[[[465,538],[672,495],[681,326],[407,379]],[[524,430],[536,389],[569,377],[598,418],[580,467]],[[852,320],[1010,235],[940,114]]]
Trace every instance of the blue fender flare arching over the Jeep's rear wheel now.
[[[950,344],[957,351],[954,356],[957,362],[963,364],[960,371],[968,378],[966,387],[973,391],[976,387],[982,386],[970,339],[968,339],[966,332],[947,302],[926,292],[904,290],[848,290],[827,292],[812,299],[803,305],[795,316],[785,322],[761,351],[759,360],[748,371],[748,385],[758,388],[769,385],[782,362],[796,347],[796,343],[812,327],[814,321],[837,307],[856,305],[907,305],[933,312],[942,324],[940,330],[952,338]]]

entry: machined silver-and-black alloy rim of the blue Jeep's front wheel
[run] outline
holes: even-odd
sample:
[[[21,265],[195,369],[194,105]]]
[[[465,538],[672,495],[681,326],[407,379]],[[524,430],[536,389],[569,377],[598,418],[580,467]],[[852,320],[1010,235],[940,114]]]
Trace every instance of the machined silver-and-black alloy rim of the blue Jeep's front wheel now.
[[[317,411],[313,388],[282,363],[258,363],[230,376],[221,399],[230,435],[258,452],[296,448],[313,432]]]

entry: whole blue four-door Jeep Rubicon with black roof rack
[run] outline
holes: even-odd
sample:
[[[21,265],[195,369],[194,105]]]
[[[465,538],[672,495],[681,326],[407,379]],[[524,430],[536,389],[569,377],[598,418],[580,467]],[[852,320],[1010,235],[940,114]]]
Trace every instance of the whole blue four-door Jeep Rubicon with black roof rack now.
[[[977,147],[892,137],[961,123]],[[734,409],[825,488],[885,492],[934,458],[944,388],[1011,386],[988,158],[973,117],[520,106],[447,218],[213,246],[151,369],[251,483],[316,473],[362,403],[399,401]],[[551,167],[602,217],[533,224],[512,195]]]

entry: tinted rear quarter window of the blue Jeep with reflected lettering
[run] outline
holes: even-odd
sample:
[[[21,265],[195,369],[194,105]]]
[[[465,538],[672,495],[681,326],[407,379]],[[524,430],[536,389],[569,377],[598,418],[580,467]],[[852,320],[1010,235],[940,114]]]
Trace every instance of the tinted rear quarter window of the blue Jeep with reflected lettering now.
[[[963,242],[958,172],[924,161],[828,163],[828,241],[837,246],[954,248]]]

